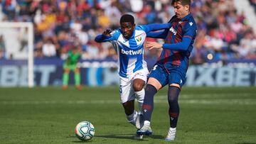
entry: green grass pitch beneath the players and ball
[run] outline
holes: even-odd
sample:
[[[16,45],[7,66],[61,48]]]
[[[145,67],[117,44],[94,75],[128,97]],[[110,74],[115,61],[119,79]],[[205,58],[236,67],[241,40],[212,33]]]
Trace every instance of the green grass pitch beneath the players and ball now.
[[[0,143],[166,143],[167,89],[154,99],[153,135],[134,140],[118,87],[0,88]],[[256,143],[255,87],[183,87],[172,143]],[[75,126],[90,121],[95,137],[81,142]]]

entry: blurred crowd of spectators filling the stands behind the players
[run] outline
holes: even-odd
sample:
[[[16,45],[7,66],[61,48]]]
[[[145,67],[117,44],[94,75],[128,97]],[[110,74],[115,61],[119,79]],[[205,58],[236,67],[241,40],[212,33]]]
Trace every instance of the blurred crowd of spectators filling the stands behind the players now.
[[[106,28],[118,28],[123,13],[132,13],[137,24],[166,23],[175,14],[169,0],[2,0],[1,11],[4,21],[33,22],[34,57],[65,57],[75,45],[83,60],[117,58],[110,43],[95,43],[94,38]],[[193,64],[256,60],[255,33],[233,0],[193,0],[191,13],[198,23]],[[159,53],[146,50],[145,57]]]

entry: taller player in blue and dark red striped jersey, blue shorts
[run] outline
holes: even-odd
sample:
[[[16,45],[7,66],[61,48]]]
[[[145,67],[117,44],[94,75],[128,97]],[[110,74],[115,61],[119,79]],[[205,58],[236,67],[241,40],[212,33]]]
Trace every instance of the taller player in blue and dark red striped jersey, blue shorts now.
[[[162,48],[161,56],[149,74],[143,104],[144,126],[137,131],[139,135],[151,135],[151,113],[154,109],[154,95],[168,84],[170,128],[166,140],[174,140],[178,121],[178,94],[186,82],[188,57],[196,38],[196,22],[190,13],[191,0],[173,0],[175,16],[171,18],[170,28],[157,33],[149,33],[151,38],[163,38],[164,44],[149,42],[146,48]]]

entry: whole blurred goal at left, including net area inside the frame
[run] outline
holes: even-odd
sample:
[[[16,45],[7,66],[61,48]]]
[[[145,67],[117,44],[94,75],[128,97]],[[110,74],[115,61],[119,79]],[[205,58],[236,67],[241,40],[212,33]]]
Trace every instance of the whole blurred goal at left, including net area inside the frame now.
[[[18,72],[17,79],[25,77],[26,80],[16,86],[33,87],[33,23],[0,22],[0,53],[1,85],[9,86],[6,82],[14,82],[11,76]]]

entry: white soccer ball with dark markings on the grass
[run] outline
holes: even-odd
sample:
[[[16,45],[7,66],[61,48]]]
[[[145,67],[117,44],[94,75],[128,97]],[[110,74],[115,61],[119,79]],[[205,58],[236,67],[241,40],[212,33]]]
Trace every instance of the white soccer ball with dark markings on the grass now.
[[[75,126],[75,135],[80,140],[90,140],[95,134],[95,128],[89,121],[81,121]]]

